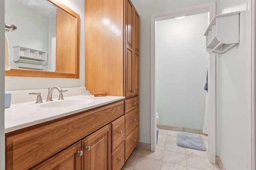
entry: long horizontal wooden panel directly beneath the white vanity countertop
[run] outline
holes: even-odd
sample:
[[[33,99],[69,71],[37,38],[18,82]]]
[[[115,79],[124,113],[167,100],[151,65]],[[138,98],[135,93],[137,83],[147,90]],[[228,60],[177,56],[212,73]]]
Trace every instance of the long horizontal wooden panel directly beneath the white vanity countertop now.
[[[6,169],[28,169],[124,114],[117,102],[6,137]]]

